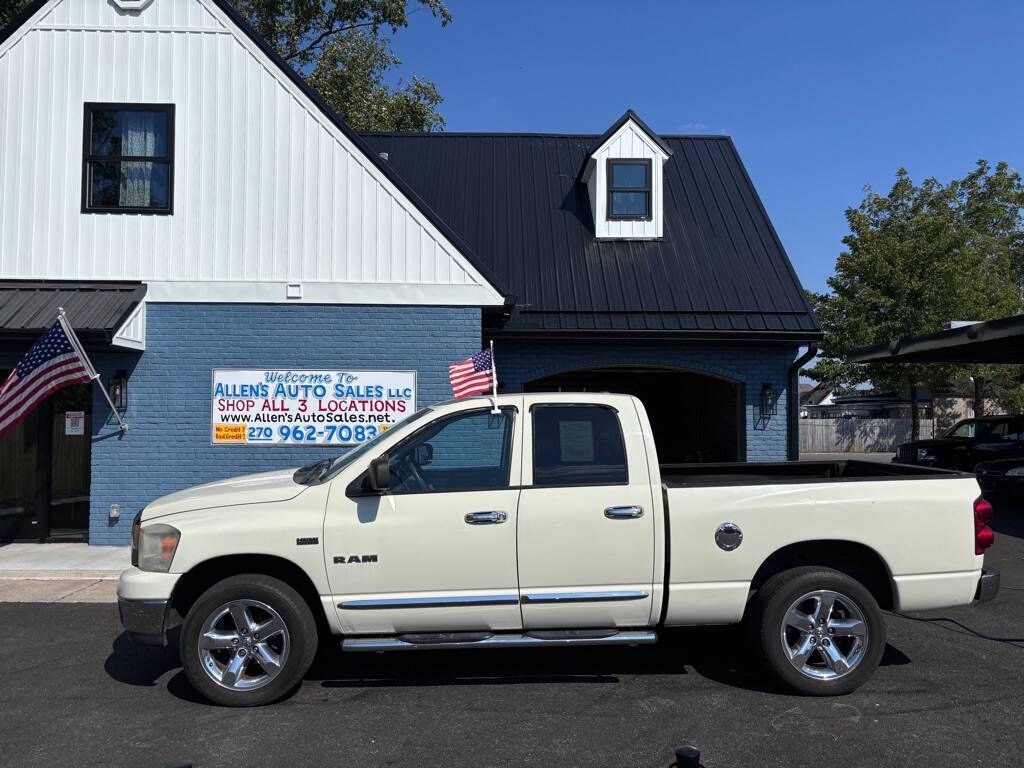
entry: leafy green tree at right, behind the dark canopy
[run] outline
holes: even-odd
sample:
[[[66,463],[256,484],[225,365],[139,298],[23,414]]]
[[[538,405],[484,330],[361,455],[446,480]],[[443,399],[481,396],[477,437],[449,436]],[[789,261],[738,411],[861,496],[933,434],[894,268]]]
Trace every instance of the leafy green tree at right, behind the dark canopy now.
[[[962,368],[854,365],[858,347],[932,333],[951,319],[989,319],[1018,311],[1020,177],[983,161],[963,180],[914,184],[905,169],[888,195],[869,188],[846,212],[850,233],[828,279],[810,294],[824,330],[821,356],[807,375],[833,386],[910,392],[912,436],[920,435],[918,392],[944,387]]]

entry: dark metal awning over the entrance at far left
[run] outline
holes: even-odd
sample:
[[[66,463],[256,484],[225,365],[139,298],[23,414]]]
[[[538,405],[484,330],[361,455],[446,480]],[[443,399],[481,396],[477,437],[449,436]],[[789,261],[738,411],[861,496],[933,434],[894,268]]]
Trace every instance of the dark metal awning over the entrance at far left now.
[[[141,283],[0,283],[0,338],[39,336],[63,307],[83,342],[109,343],[144,296]]]

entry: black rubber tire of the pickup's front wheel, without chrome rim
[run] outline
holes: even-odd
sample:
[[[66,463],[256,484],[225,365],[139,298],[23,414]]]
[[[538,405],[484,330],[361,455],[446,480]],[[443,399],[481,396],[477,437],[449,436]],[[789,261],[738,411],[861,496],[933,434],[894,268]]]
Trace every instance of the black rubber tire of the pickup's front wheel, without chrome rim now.
[[[245,602],[236,603],[234,601]],[[249,614],[256,616],[254,622],[258,622],[259,617],[266,618],[272,615],[261,612],[258,604],[265,605],[276,612],[287,630],[287,632],[279,632],[275,639],[271,641],[275,643],[276,650],[284,649],[284,652],[279,654],[279,658],[283,658],[284,662],[279,671],[272,673],[272,677],[269,673],[263,673],[268,678],[264,683],[259,682],[259,673],[262,671],[262,667],[259,664],[257,650],[251,644],[255,640],[248,640],[250,643],[248,645],[249,662],[246,663],[247,667],[244,669],[253,671],[254,674],[252,675],[253,679],[246,680],[246,682],[251,682],[258,687],[249,689],[226,687],[214,679],[214,673],[208,674],[204,666],[204,652],[200,649],[200,634],[207,622],[218,613],[218,609],[228,604],[248,605]],[[234,622],[229,618],[222,621],[228,622],[231,627],[236,626]],[[228,634],[230,633],[228,632]],[[244,649],[247,647],[247,640],[246,638],[242,638],[242,640],[241,646],[236,645],[223,650],[217,649],[214,652],[216,658],[211,659],[208,656],[208,660],[213,663],[211,669],[219,669],[216,667],[218,660],[223,660],[226,665],[234,655],[239,653],[245,655]],[[316,622],[309,605],[298,592],[278,579],[261,573],[244,573],[218,582],[204,592],[193,604],[181,626],[179,652],[181,666],[188,682],[204,697],[224,707],[260,707],[283,698],[301,684],[303,676],[316,654],[317,640]],[[282,642],[287,642],[287,646],[283,646]],[[243,650],[238,650],[239,647],[242,647]]]

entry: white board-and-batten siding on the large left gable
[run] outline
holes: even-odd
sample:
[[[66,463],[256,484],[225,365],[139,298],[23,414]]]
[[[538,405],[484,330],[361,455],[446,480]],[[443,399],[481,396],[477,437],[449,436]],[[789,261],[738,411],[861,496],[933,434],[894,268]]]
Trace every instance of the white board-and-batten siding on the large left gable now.
[[[87,101],[175,105],[173,214],[81,212]],[[148,301],[502,303],[204,0],[52,0],[0,45],[0,196],[3,280],[137,280]]]

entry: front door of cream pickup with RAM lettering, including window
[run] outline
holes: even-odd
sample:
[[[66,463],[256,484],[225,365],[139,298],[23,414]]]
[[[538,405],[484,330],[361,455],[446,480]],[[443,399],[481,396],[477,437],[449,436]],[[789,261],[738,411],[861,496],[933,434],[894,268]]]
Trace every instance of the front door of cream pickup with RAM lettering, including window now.
[[[515,408],[457,412],[388,453],[388,493],[331,488],[325,555],[346,632],[521,628],[516,417]]]

